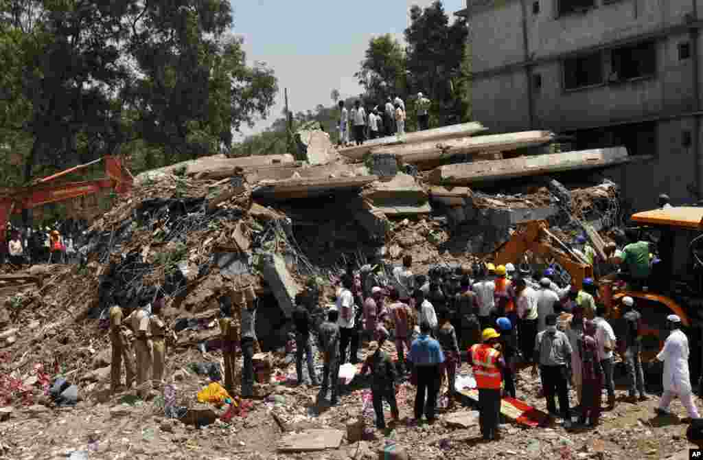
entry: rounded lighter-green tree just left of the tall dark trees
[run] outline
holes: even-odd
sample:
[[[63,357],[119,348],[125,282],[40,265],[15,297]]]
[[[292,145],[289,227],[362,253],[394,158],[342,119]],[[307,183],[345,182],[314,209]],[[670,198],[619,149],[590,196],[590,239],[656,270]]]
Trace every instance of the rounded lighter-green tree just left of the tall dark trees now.
[[[391,34],[368,41],[361,69],[354,74],[366,90],[366,97],[375,101],[387,96],[406,94],[406,56],[402,46]]]

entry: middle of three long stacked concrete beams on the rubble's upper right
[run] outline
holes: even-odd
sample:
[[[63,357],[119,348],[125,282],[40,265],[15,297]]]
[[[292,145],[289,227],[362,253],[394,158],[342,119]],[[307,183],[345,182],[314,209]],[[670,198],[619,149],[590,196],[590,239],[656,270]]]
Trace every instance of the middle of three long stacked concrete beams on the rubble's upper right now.
[[[396,155],[401,161],[414,165],[446,160],[452,155],[489,155],[548,143],[554,139],[549,131],[512,132],[490,136],[443,139],[420,143],[406,143],[399,146],[373,148],[371,153]],[[430,168],[431,169],[431,168]]]

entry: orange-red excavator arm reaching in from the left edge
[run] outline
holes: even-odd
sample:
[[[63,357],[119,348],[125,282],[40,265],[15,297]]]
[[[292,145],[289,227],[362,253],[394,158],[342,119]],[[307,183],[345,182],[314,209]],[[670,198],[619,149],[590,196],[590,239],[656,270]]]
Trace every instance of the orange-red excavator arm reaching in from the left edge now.
[[[101,179],[51,184],[51,181],[72,172],[84,170],[86,167],[95,165],[98,162],[105,164],[105,177]],[[51,176],[34,180],[30,186],[5,189],[0,196],[0,241],[5,239],[9,217],[12,214],[22,212],[23,209],[31,209],[47,203],[57,203],[58,201],[86,196],[103,189],[114,189],[117,193],[126,193],[131,190],[133,181],[134,177],[127,170],[127,167],[122,165],[122,158],[117,155],[108,155],[85,165],[78,165]]]

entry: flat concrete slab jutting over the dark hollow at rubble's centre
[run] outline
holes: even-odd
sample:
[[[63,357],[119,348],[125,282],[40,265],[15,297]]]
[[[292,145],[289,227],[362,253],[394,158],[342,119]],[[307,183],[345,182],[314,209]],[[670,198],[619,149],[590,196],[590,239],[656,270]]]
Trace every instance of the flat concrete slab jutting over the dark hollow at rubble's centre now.
[[[272,200],[311,198],[325,193],[359,190],[376,180],[378,176],[290,179],[258,186],[252,191],[252,197]]]

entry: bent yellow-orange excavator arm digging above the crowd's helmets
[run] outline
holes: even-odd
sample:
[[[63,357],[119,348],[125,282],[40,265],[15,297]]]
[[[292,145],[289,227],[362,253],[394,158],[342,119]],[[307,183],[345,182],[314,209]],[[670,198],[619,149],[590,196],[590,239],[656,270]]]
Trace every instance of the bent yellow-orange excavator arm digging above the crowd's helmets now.
[[[593,278],[593,267],[583,262],[565,243],[549,231],[545,220],[533,220],[517,226],[510,240],[494,253],[496,264],[507,264],[520,260],[531,251],[541,257],[553,259],[572,277],[572,286],[581,289],[583,279]]]

